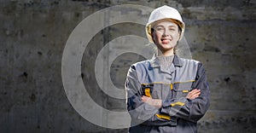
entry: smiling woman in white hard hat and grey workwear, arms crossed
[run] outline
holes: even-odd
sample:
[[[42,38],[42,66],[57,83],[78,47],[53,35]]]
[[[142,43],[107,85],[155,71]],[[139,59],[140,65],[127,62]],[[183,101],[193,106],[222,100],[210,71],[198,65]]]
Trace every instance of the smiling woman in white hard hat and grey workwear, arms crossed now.
[[[127,74],[129,132],[197,132],[210,91],[201,62],[176,55],[184,29],[177,9],[162,6],[150,14],[146,33],[157,52],[151,60],[131,65]]]

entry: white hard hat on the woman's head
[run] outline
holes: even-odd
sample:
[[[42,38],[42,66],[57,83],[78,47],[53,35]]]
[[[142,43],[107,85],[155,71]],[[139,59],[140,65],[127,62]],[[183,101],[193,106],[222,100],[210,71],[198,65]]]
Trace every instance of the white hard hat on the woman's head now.
[[[181,15],[178,13],[177,9],[173,9],[169,6],[162,6],[157,9],[154,9],[149,16],[148,23],[146,25],[146,34],[149,42],[154,43],[153,38],[151,37],[151,28],[154,26],[154,23],[159,20],[171,20],[176,21],[177,26],[181,28],[181,34],[179,40],[183,38],[185,31],[185,23]]]

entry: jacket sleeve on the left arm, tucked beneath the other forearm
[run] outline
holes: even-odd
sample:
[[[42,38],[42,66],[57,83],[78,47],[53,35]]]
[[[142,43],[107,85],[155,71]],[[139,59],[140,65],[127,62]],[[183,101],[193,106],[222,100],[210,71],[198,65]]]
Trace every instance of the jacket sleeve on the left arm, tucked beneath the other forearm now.
[[[127,110],[131,116],[131,124],[176,124],[176,119],[171,120],[165,117],[158,118],[157,114],[160,113],[160,109],[150,106],[142,101],[143,92],[141,89],[141,84],[139,83],[139,80],[137,78],[137,70],[135,66],[131,66],[128,71],[125,81],[125,90]]]

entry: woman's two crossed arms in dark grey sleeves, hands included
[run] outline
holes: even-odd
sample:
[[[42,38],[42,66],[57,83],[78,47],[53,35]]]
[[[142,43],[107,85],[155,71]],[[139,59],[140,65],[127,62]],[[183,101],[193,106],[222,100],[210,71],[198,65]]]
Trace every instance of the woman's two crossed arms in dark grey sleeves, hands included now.
[[[206,73],[202,65],[196,75],[194,90],[186,97],[174,98],[166,101],[152,99],[142,95],[141,84],[138,83],[136,67],[131,67],[126,79],[127,109],[132,119],[147,120],[155,123],[154,114],[161,113],[171,118],[186,119],[196,122],[207,112],[209,107],[210,91],[207,84]],[[175,103],[183,103],[177,105]],[[174,106],[173,106],[174,105]]]

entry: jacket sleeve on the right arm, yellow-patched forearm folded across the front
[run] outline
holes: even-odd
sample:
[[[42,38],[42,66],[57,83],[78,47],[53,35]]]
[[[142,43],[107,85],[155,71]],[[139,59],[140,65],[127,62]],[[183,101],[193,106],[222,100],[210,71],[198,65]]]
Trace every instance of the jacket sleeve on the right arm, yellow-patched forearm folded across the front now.
[[[201,95],[193,100],[180,97],[169,101],[163,101],[163,107],[160,112],[166,113],[171,117],[175,116],[192,122],[201,119],[210,106],[209,85],[207,83],[205,69],[201,63],[198,64],[195,83],[192,85],[192,88],[201,90]]]

